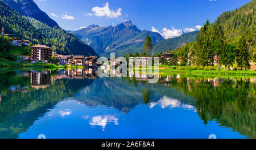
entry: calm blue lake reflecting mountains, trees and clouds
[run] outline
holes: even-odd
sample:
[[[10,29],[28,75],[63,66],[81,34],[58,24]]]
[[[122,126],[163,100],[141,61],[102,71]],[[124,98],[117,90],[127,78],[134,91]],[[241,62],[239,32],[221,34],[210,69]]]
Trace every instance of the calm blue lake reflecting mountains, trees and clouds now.
[[[256,138],[256,78],[0,72],[0,138]]]

